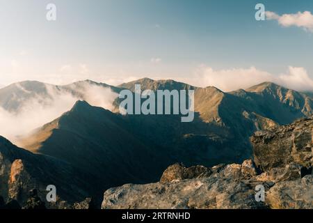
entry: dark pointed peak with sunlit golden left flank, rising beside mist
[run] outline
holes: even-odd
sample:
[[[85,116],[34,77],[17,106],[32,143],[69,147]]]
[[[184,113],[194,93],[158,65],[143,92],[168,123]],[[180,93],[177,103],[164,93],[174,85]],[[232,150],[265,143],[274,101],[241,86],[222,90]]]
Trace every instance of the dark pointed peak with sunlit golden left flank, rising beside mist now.
[[[138,139],[130,125],[118,114],[78,101],[19,144],[97,176],[103,188],[155,180],[170,163],[167,152]]]

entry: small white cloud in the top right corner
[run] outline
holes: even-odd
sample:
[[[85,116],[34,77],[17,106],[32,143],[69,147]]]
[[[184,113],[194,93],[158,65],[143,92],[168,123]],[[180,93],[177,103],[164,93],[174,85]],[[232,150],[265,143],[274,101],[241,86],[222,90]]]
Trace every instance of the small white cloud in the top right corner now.
[[[278,20],[278,24],[281,26],[297,26],[305,29],[305,31],[313,32],[313,15],[310,11],[283,15],[266,11],[266,20]]]

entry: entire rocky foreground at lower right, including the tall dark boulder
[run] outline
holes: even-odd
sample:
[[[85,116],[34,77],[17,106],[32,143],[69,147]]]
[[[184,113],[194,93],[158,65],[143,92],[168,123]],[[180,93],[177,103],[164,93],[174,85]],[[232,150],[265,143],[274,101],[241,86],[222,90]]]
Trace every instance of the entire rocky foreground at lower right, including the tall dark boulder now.
[[[102,208],[313,208],[312,123],[306,118],[256,132],[255,162],[174,164],[159,183],[106,190]],[[260,187],[264,201],[256,199]]]

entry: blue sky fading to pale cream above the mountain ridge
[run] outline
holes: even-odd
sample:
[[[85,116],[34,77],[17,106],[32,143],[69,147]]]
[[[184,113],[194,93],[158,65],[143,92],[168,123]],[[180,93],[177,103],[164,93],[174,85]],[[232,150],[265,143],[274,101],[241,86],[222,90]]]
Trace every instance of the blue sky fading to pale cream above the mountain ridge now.
[[[54,22],[46,20],[48,3],[56,5]],[[152,77],[227,91],[241,87],[220,84],[227,75],[282,76],[278,82],[286,85],[294,72],[312,79],[313,32],[255,20],[256,3],[278,15],[313,12],[304,0],[0,0],[0,84]],[[242,87],[248,84],[254,83]]]

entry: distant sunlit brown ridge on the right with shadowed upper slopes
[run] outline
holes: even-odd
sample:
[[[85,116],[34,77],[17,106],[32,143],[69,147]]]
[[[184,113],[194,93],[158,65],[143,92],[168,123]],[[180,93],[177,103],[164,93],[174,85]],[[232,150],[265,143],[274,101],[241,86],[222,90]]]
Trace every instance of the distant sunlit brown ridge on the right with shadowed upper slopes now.
[[[250,89],[239,89],[225,93],[214,86],[198,88],[173,80],[143,78],[134,82],[121,84],[120,88],[134,91],[134,85],[141,84],[141,89],[185,90],[195,91],[195,112],[205,122],[232,124],[231,120],[242,119],[243,116],[257,114],[259,118],[270,118],[279,124],[287,124],[303,116],[313,114],[313,99],[300,93],[271,82],[264,82]],[[227,123],[230,122],[230,123]],[[241,123],[242,124],[242,123]]]

